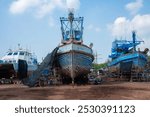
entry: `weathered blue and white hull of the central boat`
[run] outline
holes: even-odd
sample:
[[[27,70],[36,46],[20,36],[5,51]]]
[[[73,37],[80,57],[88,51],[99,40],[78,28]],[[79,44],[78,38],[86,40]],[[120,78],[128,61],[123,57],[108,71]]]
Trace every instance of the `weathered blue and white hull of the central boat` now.
[[[60,47],[57,60],[60,74],[75,79],[90,72],[93,62],[92,50],[83,45],[68,44]]]

